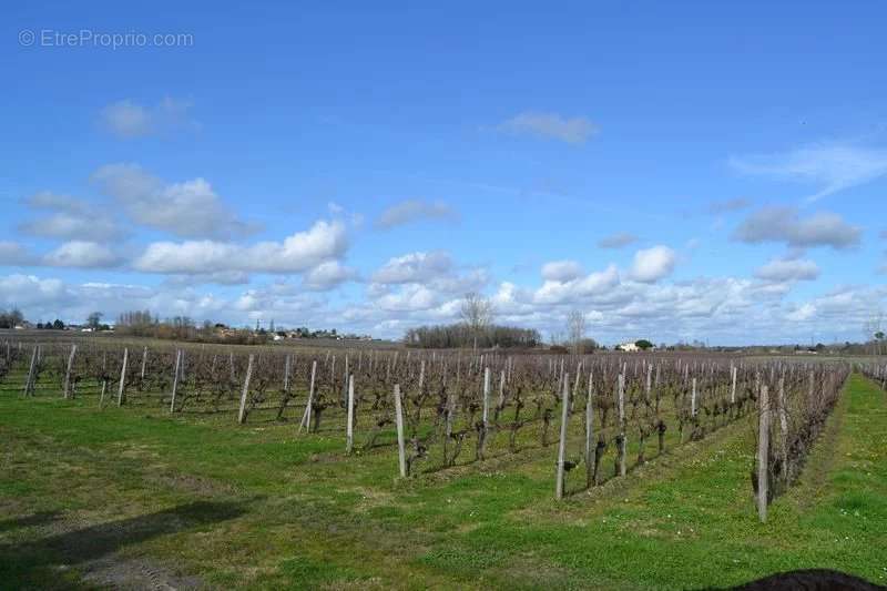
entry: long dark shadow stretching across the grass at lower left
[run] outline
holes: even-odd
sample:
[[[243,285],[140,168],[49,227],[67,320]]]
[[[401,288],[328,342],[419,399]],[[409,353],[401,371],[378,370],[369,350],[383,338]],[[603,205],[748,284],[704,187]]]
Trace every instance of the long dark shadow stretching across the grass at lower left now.
[[[246,512],[244,502],[197,501],[144,516],[57,533],[23,543],[0,544],[0,581],[21,587],[59,587],[60,567],[89,563],[145,540],[218,523]],[[38,513],[9,520],[9,528],[41,524],[58,516]],[[13,523],[16,522],[16,523]],[[0,522],[7,524],[7,522]],[[2,587],[2,585],[0,585]]]

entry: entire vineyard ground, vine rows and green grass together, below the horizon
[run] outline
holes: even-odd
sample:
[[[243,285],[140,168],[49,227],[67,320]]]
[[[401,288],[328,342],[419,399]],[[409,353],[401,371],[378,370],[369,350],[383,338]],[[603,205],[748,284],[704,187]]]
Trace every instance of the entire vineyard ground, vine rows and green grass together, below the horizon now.
[[[875,358],[14,337],[16,587],[887,581]]]

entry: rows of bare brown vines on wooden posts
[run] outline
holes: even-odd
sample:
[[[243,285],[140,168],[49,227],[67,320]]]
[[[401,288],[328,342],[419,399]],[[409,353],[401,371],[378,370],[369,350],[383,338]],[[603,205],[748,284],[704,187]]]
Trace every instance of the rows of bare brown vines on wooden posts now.
[[[843,361],[718,356],[2,347],[7,394],[22,385],[21,396],[82,398],[96,410],[165,409],[338,437],[346,456],[397,449],[400,477],[548,454],[558,499],[753,417],[762,520],[799,475],[850,370]],[[884,380],[883,368],[868,371]]]

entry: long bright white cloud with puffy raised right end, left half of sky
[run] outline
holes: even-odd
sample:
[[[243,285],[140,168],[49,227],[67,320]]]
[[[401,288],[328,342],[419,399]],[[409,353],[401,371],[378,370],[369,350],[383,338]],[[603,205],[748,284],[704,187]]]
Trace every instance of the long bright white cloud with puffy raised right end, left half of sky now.
[[[133,264],[146,273],[300,273],[340,257],[348,247],[340,222],[316,222],[283,242],[244,246],[215,241],[155,242]]]

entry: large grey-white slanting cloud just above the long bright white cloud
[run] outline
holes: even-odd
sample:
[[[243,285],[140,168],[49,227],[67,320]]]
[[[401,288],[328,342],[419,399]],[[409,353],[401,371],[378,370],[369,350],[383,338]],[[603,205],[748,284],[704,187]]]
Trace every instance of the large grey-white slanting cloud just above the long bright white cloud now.
[[[108,164],[92,176],[136,223],[183,238],[227,238],[253,233],[204,179],[165,184],[136,164]]]

